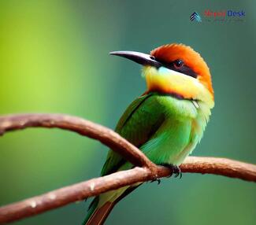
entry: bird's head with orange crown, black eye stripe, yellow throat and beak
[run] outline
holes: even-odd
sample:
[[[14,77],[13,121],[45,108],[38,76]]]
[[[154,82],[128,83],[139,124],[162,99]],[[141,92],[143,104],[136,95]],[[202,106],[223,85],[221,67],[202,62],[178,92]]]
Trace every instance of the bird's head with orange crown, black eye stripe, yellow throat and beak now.
[[[214,105],[210,69],[199,53],[190,46],[169,44],[150,54],[116,51],[110,54],[126,57],[143,65],[147,92],[173,94],[179,98],[204,101]]]

